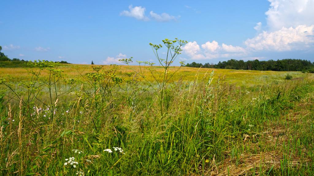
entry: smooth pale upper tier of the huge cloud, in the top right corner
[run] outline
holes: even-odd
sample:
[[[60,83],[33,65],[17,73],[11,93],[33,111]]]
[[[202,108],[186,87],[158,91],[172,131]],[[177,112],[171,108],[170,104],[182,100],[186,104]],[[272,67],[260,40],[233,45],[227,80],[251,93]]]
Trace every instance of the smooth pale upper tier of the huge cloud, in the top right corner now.
[[[265,13],[270,31],[296,28],[314,24],[314,0],[268,0],[270,8]]]

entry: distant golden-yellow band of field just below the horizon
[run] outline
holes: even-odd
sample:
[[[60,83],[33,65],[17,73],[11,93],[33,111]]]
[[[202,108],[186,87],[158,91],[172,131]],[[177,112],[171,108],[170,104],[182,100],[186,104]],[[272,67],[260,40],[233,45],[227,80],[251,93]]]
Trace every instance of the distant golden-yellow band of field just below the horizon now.
[[[100,65],[94,65],[100,66]],[[110,65],[101,65],[103,66],[103,70],[109,70],[111,68]],[[156,70],[154,72],[155,77],[159,77],[159,74],[162,73],[162,67],[159,66],[146,66],[144,69],[144,75],[146,79],[149,81],[154,81],[153,76],[147,70],[147,68],[153,68]],[[179,67],[171,67],[169,69],[168,75],[171,75],[176,69]],[[78,78],[81,79],[82,75],[86,73],[93,72],[92,65],[77,65],[77,64],[62,64],[58,67],[58,69],[63,70],[65,79],[69,78]],[[126,78],[126,72],[140,71],[139,66],[127,66],[121,65],[117,70],[117,75],[122,78]],[[142,67],[143,69],[143,67]],[[30,68],[0,68],[0,74],[2,78],[13,80],[13,82],[25,81],[30,78]],[[36,70],[36,69],[35,69]],[[259,85],[267,85],[267,84],[278,84],[280,82],[285,81],[284,77],[286,74],[290,74],[293,76],[293,80],[297,80],[301,77],[304,77],[306,74],[301,72],[278,72],[278,71],[255,71],[255,70],[230,70],[230,69],[207,69],[207,68],[191,68],[191,67],[181,67],[181,69],[171,78],[171,80],[183,80],[183,81],[191,81],[194,79],[198,79],[199,81],[204,80],[204,76],[207,77],[211,71],[214,70],[214,81],[217,80],[218,77],[221,78],[222,82],[235,84],[237,86],[259,86]],[[42,73],[45,74],[45,73]]]

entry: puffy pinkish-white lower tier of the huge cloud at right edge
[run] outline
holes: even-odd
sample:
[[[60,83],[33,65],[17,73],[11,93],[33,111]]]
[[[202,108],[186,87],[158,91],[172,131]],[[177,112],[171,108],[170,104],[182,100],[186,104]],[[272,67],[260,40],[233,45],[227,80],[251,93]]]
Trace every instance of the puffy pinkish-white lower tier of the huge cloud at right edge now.
[[[299,25],[296,28],[282,27],[274,32],[258,34],[244,43],[253,50],[290,51],[309,48],[314,43],[314,25]]]

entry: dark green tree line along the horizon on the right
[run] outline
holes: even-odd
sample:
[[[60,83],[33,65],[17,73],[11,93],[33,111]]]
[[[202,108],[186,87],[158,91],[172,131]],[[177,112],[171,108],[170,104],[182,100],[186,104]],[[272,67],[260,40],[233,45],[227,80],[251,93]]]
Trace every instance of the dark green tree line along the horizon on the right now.
[[[235,69],[235,70],[272,70],[272,71],[303,71],[314,72],[314,62],[310,60],[300,59],[283,59],[283,60],[228,60],[218,64],[201,64],[192,62],[187,64],[187,67],[202,67],[202,68],[215,68],[215,69]]]

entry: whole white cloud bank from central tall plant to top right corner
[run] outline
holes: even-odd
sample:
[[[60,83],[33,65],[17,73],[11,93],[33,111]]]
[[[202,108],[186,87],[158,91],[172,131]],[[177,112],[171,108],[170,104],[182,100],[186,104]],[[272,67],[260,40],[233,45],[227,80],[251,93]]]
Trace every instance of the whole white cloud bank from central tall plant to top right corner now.
[[[183,52],[193,60],[234,58],[263,59],[249,57],[260,51],[295,51],[314,48],[314,0],[268,0],[270,8],[267,25],[256,23],[255,37],[246,39],[246,47],[227,44],[219,45],[213,40],[200,46],[196,41],[183,47]]]

